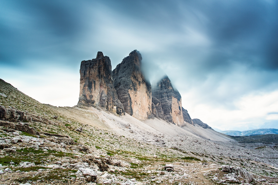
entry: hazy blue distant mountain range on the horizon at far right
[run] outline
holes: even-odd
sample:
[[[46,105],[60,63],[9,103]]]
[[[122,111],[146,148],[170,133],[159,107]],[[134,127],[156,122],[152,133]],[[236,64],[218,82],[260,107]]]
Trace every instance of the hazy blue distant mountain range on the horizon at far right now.
[[[278,134],[278,129],[254,129],[254,130],[246,130],[242,132],[237,130],[226,130],[226,131],[221,131],[220,133],[229,136],[254,136],[254,135],[265,135],[265,134]]]

